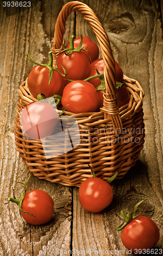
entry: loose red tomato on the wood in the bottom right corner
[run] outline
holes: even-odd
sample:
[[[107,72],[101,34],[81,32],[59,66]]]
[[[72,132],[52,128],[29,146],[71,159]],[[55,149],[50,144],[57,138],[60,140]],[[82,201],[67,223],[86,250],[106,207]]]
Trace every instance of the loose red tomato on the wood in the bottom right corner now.
[[[151,249],[159,240],[158,226],[146,216],[138,216],[131,220],[121,233],[123,245],[132,253]]]

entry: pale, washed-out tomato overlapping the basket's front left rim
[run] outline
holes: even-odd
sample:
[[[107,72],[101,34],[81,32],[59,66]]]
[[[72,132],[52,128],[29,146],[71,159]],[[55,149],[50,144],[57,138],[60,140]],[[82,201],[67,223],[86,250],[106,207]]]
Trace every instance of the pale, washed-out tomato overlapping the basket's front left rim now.
[[[58,114],[49,103],[35,101],[22,110],[20,122],[25,135],[38,140],[55,131]]]

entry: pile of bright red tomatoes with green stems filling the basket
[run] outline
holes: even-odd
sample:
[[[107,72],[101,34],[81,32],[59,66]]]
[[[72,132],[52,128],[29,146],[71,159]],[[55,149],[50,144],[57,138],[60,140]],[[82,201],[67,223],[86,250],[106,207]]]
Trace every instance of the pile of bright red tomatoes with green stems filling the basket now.
[[[48,65],[39,65],[33,61],[38,65],[28,77],[28,88],[32,95],[36,98],[41,93],[46,97],[60,95],[60,109],[66,108],[71,113],[100,111],[105,84],[101,83],[104,62],[99,58],[98,46],[87,36],[76,39],[72,36],[70,43],[59,54],[55,68],[52,67],[51,59],[52,55]],[[129,102],[129,93],[117,61],[115,70],[117,103],[120,108]],[[98,77],[98,74],[101,76]]]

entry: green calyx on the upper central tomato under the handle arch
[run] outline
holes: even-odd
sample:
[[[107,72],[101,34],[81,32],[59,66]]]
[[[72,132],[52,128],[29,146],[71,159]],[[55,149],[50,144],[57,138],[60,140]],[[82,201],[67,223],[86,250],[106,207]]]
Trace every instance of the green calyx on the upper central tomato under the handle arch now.
[[[86,52],[88,52],[89,57],[90,57],[89,51],[86,50],[86,49],[84,49],[86,46],[82,47],[82,45],[83,45],[83,36],[81,36],[81,40],[80,40],[79,45],[78,45],[77,48],[74,48],[74,44],[73,44],[74,39],[75,39],[75,36],[72,35],[72,36],[71,36],[71,40],[70,40],[70,48],[65,48],[65,47],[62,45],[62,47],[64,48],[64,50],[61,51],[60,54],[64,52],[66,55],[70,55],[70,54],[73,53],[73,52],[86,51]],[[91,60],[91,57],[90,57],[90,60]],[[92,63],[92,60],[91,60],[91,63]]]

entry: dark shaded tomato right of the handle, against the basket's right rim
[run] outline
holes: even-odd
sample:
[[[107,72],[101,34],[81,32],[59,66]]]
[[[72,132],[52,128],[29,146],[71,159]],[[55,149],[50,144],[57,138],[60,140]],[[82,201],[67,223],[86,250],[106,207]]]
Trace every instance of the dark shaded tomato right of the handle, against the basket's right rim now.
[[[121,108],[121,106],[127,104],[129,102],[129,92],[125,85],[123,85],[121,88],[116,89],[117,94],[117,104],[118,108]]]

